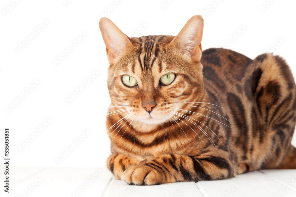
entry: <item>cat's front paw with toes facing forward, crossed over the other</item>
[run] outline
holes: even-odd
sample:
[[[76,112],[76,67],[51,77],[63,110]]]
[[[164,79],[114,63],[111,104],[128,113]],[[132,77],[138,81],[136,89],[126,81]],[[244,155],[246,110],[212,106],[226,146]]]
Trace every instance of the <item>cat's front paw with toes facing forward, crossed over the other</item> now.
[[[163,175],[148,165],[135,165],[123,172],[121,180],[130,185],[159,185]]]

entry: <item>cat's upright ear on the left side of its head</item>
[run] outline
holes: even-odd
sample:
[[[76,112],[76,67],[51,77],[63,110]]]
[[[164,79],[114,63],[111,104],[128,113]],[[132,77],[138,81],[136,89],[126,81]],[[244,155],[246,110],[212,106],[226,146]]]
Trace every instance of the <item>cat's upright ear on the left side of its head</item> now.
[[[131,41],[128,37],[108,18],[102,17],[99,22],[104,43],[106,45],[107,57],[110,64],[124,53]]]

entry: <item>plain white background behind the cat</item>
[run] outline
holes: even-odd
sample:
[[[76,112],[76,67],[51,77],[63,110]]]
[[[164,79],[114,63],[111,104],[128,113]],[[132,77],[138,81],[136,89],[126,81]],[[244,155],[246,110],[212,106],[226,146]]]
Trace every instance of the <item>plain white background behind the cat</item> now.
[[[176,35],[190,17],[202,14],[205,19],[203,49],[229,48],[252,59],[273,51],[284,57],[294,76],[296,74],[296,1],[269,0],[269,4],[263,0],[65,2],[17,1],[11,10],[7,6],[12,7],[12,1],[2,0],[0,4],[0,147],[3,147],[4,128],[9,128],[9,156],[14,166],[105,167],[110,154],[105,128],[110,98],[106,77],[108,61],[98,26],[102,14],[130,37]],[[111,11],[106,11],[108,8]],[[48,21],[47,25],[44,20]],[[242,26],[246,28],[240,29]],[[38,35],[36,28],[40,31]],[[237,32],[239,30],[241,32]],[[87,35],[73,47],[73,40],[79,38],[81,32]],[[232,34],[236,32],[239,35],[234,39]],[[33,39],[17,51],[30,35]],[[278,39],[282,41],[276,44]],[[276,46],[274,50],[270,48],[272,45]],[[53,61],[68,47],[71,51],[54,65]],[[91,78],[94,70],[100,74]],[[90,78],[93,79],[90,84],[84,83]],[[24,89],[32,88],[30,85],[36,79],[38,84],[26,94]],[[68,103],[66,99],[81,85],[84,89]],[[23,99],[7,113],[6,108],[20,96]],[[52,122],[38,133],[36,128],[42,126],[46,118]],[[80,143],[74,142],[86,129],[90,133]],[[20,150],[29,138],[33,141],[27,141],[30,143]],[[295,138],[293,144],[296,144]],[[58,163],[56,159],[70,146],[74,149]],[[0,151],[2,157],[3,148]]]

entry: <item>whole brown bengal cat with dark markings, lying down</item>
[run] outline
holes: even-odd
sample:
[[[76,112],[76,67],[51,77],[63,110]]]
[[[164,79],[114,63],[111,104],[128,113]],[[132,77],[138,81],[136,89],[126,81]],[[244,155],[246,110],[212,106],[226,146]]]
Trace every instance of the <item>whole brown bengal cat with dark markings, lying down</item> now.
[[[219,180],[295,169],[296,86],[279,56],[202,52],[203,19],[176,36],[129,38],[110,19],[107,167],[132,185]]]

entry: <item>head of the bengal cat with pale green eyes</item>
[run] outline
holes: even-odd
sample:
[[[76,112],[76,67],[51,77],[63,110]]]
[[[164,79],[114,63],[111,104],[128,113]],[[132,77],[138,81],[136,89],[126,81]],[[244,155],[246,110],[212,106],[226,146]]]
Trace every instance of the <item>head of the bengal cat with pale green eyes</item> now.
[[[202,16],[191,17],[176,36],[129,38],[106,17],[99,27],[110,63],[112,106],[123,106],[122,116],[160,124],[185,113],[177,109],[190,110],[182,107],[189,102],[202,102]]]

